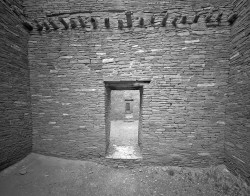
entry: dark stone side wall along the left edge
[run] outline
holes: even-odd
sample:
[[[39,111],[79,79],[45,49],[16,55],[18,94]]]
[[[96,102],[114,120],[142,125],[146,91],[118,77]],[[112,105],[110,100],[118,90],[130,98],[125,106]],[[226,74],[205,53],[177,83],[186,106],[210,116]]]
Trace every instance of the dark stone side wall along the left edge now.
[[[24,158],[32,148],[29,34],[12,11],[21,9],[21,3],[0,1],[0,170]]]

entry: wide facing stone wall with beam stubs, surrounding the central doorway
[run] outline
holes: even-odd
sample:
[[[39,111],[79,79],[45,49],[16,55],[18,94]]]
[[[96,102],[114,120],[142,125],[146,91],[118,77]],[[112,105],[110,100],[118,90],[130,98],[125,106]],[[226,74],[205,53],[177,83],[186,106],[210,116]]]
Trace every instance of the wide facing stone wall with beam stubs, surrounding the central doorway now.
[[[203,3],[205,2],[205,3]],[[207,166],[224,161],[229,1],[25,1],[26,14],[58,30],[29,40],[34,152],[105,157],[104,81],[145,81],[143,163]],[[125,11],[133,11],[126,27]],[[165,27],[162,19],[168,11]],[[215,16],[223,12],[218,25]],[[201,13],[193,23],[196,12]],[[211,22],[205,17],[213,13]],[[150,24],[155,14],[154,24]],[[77,22],[64,29],[58,17]],[[82,28],[78,16],[98,21]],[[181,24],[182,16],[187,23]],[[110,19],[110,28],[104,18]],[[144,25],[139,25],[140,17]],[[172,25],[177,17],[177,26]],[[117,20],[124,28],[118,29]],[[48,22],[47,22],[48,23]],[[107,93],[106,93],[107,94]],[[106,112],[107,114],[107,112]],[[108,127],[106,119],[106,127]]]

